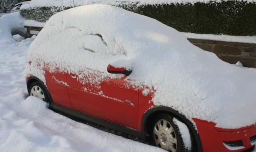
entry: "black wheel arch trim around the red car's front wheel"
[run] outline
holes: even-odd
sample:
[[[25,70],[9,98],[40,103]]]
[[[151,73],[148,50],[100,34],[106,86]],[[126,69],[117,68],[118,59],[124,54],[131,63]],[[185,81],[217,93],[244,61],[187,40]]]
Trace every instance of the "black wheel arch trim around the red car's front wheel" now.
[[[193,151],[198,151],[198,152],[202,152],[202,143],[201,143],[201,139],[200,136],[197,132],[197,130],[194,127],[194,124],[192,124],[192,122],[190,122],[190,120],[188,120],[184,115],[180,114],[178,111],[170,108],[170,107],[166,107],[166,106],[154,106],[153,108],[150,108],[149,110],[146,111],[146,113],[144,114],[144,116],[142,117],[142,123],[141,123],[141,131],[146,134],[147,133],[147,129],[150,126],[150,118],[156,116],[157,114],[160,113],[168,113],[172,116],[175,116],[176,118],[178,118],[181,122],[183,122],[184,124],[186,124],[186,126],[188,127],[188,129],[191,131],[192,133],[192,138],[194,139],[194,141],[196,142],[196,150]]]

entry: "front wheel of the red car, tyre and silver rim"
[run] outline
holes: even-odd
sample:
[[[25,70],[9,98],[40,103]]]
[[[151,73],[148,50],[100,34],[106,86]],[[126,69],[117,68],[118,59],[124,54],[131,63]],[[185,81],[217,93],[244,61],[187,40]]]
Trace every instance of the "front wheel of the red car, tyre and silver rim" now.
[[[188,151],[182,140],[180,129],[168,114],[158,114],[151,125],[151,144],[169,152]]]

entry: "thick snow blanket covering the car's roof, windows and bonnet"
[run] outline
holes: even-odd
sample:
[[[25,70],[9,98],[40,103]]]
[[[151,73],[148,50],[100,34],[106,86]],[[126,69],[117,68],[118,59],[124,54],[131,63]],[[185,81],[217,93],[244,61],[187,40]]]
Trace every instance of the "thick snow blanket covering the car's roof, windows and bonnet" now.
[[[28,57],[27,73],[36,61],[49,64],[51,71],[104,72],[94,83],[122,76],[108,74],[108,64],[130,68],[126,80],[154,87],[155,105],[220,128],[256,122],[255,73],[223,62],[157,20],[115,6],[86,5],[55,14],[32,42]],[[34,74],[43,77],[43,72]]]

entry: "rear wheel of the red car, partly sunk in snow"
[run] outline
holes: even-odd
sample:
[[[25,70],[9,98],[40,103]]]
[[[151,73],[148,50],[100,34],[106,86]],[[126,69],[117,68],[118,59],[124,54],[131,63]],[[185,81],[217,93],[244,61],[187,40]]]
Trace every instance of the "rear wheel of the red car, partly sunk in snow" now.
[[[46,89],[46,86],[44,86],[44,84],[38,81],[32,82],[28,90],[28,95],[36,96],[37,98],[40,98],[44,102],[47,102],[50,104],[50,97],[49,97],[50,94]]]

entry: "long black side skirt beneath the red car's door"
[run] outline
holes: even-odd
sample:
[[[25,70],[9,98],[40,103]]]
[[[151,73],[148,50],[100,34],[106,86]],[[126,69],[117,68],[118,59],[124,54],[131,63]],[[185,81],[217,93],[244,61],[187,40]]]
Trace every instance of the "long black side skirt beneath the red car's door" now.
[[[57,111],[60,111],[60,112],[63,112],[63,113],[66,113],[66,114],[69,114],[71,116],[80,118],[82,120],[90,121],[90,122],[93,122],[95,124],[99,124],[101,126],[112,128],[114,130],[118,130],[118,131],[126,133],[126,134],[131,134],[131,135],[137,136],[139,138],[146,139],[145,134],[143,134],[142,132],[140,132],[138,130],[133,130],[133,129],[128,128],[126,126],[122,126],[120,124],[115,124],[115,123],[109,122],[107,120],[103,120],[103,119],[100,119],[100,118],[97,118],[97,117],[94,117],[94,116],[90,116],[88,114],[84,114],[82,112],[78,112],[76,110],[66,108],[66,107],[61,106],[59,104],[51,103],[50,108],[52,108],[54,110],[57,110]]]

